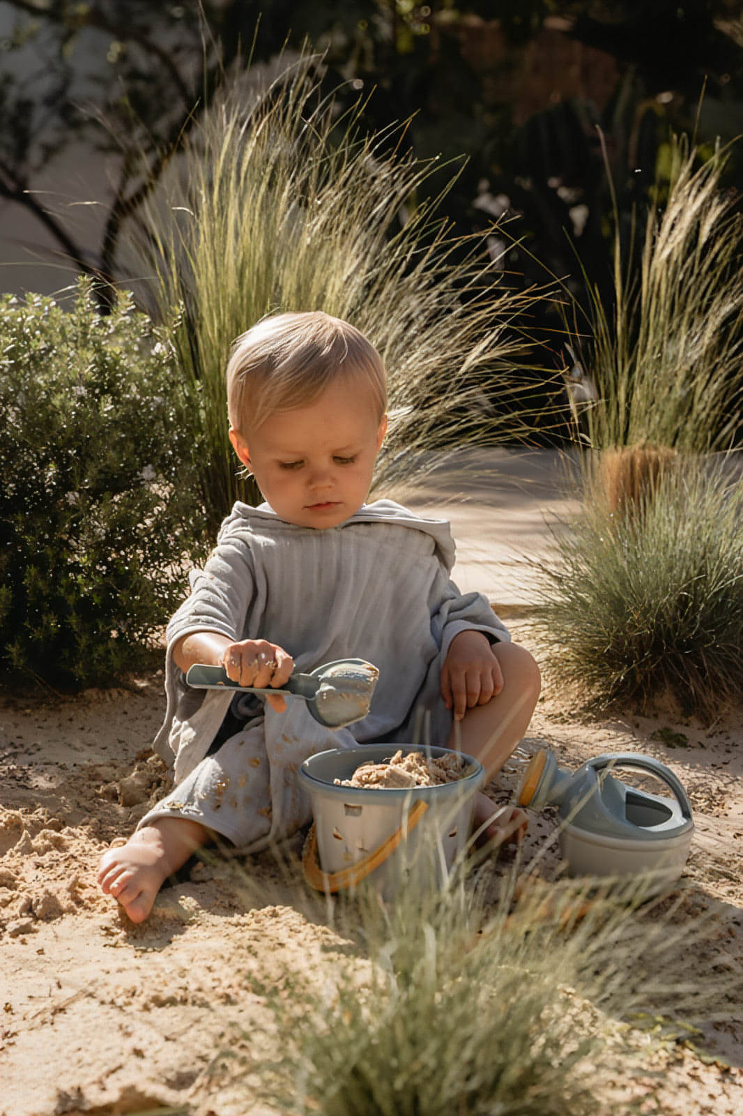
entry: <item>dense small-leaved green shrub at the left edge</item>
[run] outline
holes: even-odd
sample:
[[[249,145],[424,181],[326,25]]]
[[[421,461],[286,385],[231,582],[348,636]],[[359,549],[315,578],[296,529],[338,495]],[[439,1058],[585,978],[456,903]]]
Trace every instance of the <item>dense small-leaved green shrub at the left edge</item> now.
[[[0,302],[0,663],[89,685],[142,662],[203,518],[164,335],[122,296],[99,317]]]

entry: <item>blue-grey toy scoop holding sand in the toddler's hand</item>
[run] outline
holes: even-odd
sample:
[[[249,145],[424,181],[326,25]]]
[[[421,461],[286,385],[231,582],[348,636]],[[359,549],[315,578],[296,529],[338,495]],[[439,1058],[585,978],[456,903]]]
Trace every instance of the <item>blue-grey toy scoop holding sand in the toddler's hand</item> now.
[[[230,679],[222,666],[195,663],[189,667],[186,682],[197,690],[237,690],[250,694],[293,694],[302,698],[320,724],[342,729],[360,721],[369,712],[369,703],[379,671],[363,658],[338,658],[324,663],[309,674],[295,672],[282,686],[241,686]]]

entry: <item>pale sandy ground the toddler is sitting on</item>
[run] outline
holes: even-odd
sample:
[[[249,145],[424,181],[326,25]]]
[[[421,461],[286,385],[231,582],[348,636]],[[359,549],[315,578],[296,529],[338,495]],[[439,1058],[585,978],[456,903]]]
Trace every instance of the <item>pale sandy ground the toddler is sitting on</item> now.
[[[481,531],[477,508],[470,512]],[[466,547],[462,571],[465,558]],[[528,599],[500,605],[528,643]],[[303,883],[269,856],[196,866],[161,893],[139,927],[97,892],[100,854],[167,786],[149,749],[163,710],[162,676],[131,690],[0,699],[0,1116],[268,1114],[250,1088],[251,1067],[276,1043],[266,990],[348,952],[306,902]],[[539,747],[566,766],[627,750],[676,772],[696,826],[685,907],[712,915],[704,964],[712,952],[740,972],[741,718],[710,730],[663,715],[587,722],[556,695],[548,665],[546,696],[517,760]],[[491,785],[495,800],[509,798],[518,766]],[[553,827],[549,811],[532,815],[527,858]],[[703,960],[687,960],[693,977]],[[668,1116],[743,1112],[743,1008],[733,1001],[721,1011],[694,1048],[667,1051]]]

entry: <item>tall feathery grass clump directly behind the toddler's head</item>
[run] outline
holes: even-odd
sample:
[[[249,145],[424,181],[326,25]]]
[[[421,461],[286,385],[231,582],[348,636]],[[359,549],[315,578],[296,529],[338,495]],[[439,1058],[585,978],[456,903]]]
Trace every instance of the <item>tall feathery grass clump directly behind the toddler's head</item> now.
[[[481,238],[452,240],[431,205],[416,205],[431,164],[396,153],[404,128],[369,137],[358,110],[338,117],[315,64],[301,57],[263,92],[251,88],[254,69],[235,80],[147,209],[143,270],[156,273],[164,317],[181,315],[175,344],[209,445],[215,522],[245,494],[226,436],[230,345],[274,310],[347,318],[382,353],[394,421],[377,484],[424,468],[444,440],[534,425],[523,402],[533,345],[512,320],[538,295],[504,288]]]

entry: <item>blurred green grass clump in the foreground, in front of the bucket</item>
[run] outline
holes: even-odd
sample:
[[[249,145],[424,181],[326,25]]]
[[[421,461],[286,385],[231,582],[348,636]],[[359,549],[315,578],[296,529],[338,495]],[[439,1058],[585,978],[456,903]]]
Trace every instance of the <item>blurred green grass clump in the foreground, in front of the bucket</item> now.
[[[673,1042],[730,1010],[728,973],[684,975],[685,950],[708,930],[683,926],[675,908],[640,916],[629,893],[587,902],[578,884],[517,902],[513,878],[493,903],[491,876],[492,863],[441,894],[337,901],[346,949],[280,988],[249,979],[277,1055],[249,1060],[244,1078],[233,1060],[231,1096],[244,1080],[245,1101],[258,1093],[283,1116],[619,1116],[654,1088],[653,1040],[635,1024],[652,1019],[656,1041]]]

